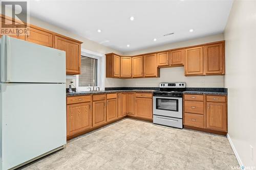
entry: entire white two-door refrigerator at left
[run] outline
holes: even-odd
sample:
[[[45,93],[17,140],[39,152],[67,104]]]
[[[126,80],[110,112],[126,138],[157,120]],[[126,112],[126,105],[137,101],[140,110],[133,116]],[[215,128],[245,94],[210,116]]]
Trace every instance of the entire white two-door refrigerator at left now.
[[[66,53],[3,36],[0,62],[2,170],[66,144]]]

